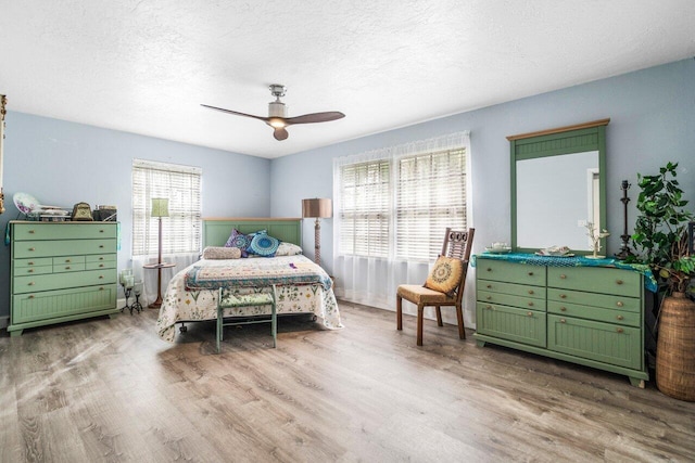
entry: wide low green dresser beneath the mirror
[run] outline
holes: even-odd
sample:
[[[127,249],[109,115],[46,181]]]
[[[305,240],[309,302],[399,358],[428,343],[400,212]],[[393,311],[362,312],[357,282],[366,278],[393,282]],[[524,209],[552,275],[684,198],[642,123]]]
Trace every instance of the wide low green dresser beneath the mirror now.
[[[497,344],[624,374],[644,386],[644,281],[631,270],[478,256],[479,346]]]

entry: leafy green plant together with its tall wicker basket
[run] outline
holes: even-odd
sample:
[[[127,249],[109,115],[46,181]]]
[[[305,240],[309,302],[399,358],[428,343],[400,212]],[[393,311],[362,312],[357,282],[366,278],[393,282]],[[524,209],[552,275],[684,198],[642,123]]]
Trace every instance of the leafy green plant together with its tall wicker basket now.
[[[694,216],[685,210],[677,168],[678,163],[668,163],[658,175],[637,175],[640,215],[632,239],[665,286],[657,316],[657,387],[695,401],[695,303],[686,294],[695,274],[687,248],[687,223]]]

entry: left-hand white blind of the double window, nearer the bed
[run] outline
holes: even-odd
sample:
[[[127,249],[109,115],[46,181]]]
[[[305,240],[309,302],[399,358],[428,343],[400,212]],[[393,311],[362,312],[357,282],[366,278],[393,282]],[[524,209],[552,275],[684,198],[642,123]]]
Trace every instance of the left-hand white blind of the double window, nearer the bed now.
[[[341,167],[341,253],[368,257],[388,256],[390,171],[389,159]]]

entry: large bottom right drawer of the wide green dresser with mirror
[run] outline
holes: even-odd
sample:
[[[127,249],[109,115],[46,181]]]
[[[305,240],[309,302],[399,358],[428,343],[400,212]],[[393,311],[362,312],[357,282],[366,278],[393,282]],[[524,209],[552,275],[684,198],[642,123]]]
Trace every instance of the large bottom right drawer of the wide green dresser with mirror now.
[[[633,370],[644,368],[642,331],[637,327],[554,314],[547,316],[547,327],[551,350]]]

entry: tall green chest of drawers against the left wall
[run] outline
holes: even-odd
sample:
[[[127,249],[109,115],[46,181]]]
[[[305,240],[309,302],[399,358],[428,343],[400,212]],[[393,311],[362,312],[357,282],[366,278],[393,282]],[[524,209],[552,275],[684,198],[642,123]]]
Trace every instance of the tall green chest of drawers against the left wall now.
[[[12,336],[118,311],[116,223],[11,221],[10,227]]]

